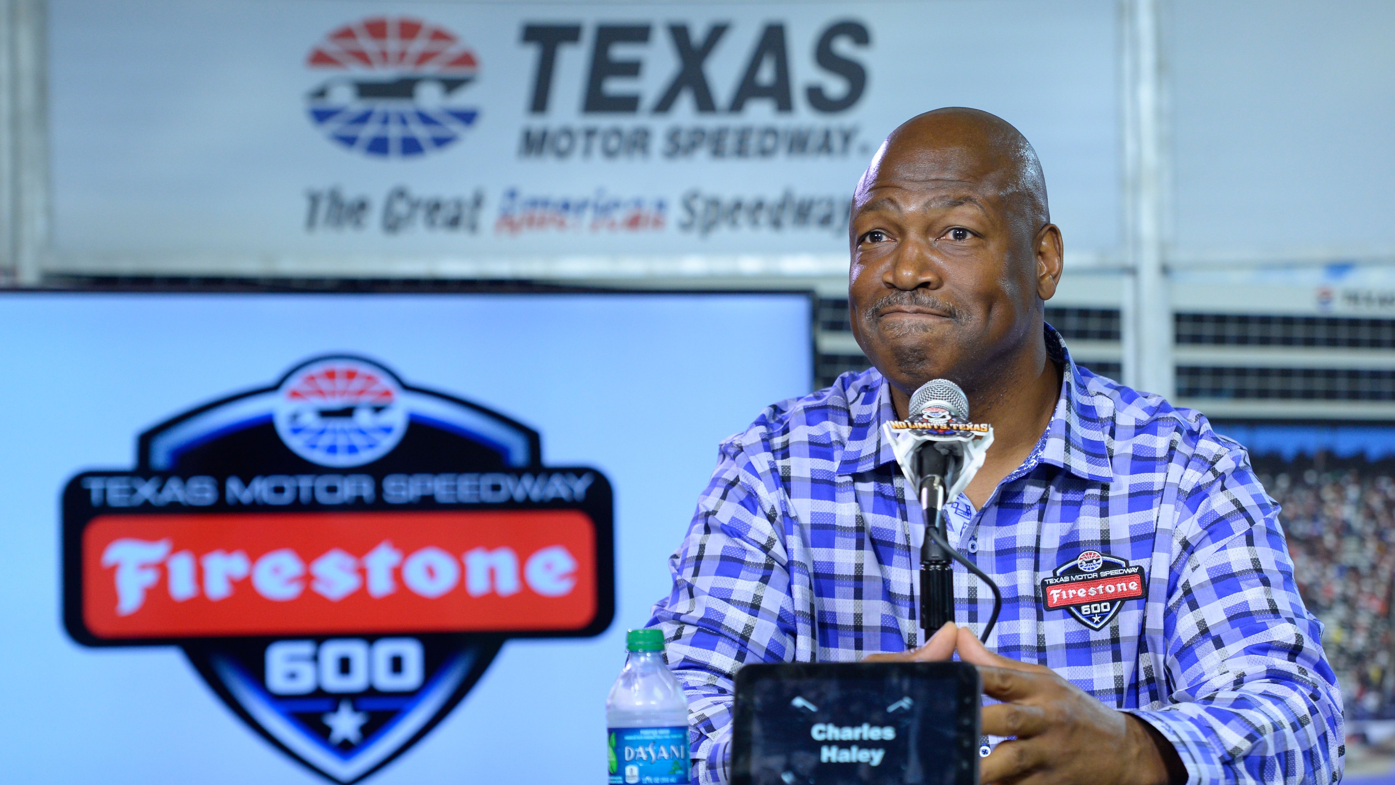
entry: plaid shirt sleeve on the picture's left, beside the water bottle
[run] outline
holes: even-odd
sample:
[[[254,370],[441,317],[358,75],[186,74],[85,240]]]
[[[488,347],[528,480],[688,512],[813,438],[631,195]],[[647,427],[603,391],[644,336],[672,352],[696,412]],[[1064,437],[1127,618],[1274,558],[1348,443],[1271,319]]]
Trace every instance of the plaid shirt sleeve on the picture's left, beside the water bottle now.
[[[692,774],[702,784],[727,781],[737,669],[812,660],[809,613],[795,611],[795,595],[810,607],[812,584],[805,567],[791,567],[778,498],[774,478],[739,443],[724,443],[668,561],[672,591],[650,620],[664,630],[668,665],[688,693]]]

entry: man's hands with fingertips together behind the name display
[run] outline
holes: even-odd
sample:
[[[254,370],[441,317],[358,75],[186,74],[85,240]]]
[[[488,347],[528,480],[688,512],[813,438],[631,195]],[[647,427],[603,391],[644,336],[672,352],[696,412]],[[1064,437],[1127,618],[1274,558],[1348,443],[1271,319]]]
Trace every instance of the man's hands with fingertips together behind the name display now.
[[[982,782],[1014,785],[1165,785],[1186,781],[1182,760],[1152,725],[1109,708],[1042,665],[999,657],[968,627],[946,623],[930,640],[869,662],[936,662],[958,651],[978,665],[983,693],[1003,703],[983,707],[983,733],[1016,736],[979,764]]]

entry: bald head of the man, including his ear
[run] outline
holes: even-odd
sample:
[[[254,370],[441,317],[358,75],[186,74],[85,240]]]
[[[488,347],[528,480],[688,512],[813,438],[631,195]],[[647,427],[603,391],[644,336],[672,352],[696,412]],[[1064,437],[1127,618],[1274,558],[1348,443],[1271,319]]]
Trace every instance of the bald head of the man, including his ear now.
[[[1045,351],[1060,230],[1036,153],[1007,121],[949,107],[891,131],[858,183],[850,234],[852,332],[901,392],[947,378],[972,399]]]

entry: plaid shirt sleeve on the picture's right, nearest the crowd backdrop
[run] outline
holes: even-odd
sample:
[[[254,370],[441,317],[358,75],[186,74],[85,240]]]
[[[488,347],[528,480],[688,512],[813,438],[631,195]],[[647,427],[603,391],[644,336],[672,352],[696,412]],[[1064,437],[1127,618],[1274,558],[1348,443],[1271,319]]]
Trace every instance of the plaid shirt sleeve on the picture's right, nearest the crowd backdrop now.
[[[1239,448],[1180,503],[1163,616],[1172,703],[1133,714],[1172,742],[1190,785],[1342,777],[1342,694],[1278,512]]]

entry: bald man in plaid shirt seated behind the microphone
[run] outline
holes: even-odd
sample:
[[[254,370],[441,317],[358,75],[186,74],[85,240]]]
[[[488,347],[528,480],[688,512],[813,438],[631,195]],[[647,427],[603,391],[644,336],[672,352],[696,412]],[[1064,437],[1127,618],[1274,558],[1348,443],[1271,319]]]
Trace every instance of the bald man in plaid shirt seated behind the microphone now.
[[[1278,506],[1200,413],[1076,365],[1043,321],[1062,276],[1036,153],[1006,121],[940,109],[858,183],[848,308],[873,368],[777,403],[720,448],[654,607],[689,699],[692,774],[723,782],[746,662],[979,666],[983,782],[1314,782],[1342,775],[1342,699],[1293,583]],[[993,427],[946,505],[956,619],[918,639],[923,521],[882,424],[929,379]],[[1041,581],[1141,567],[1141,595],[1048,605]],[[1106,607],[1108,605],[1108,607]]]

